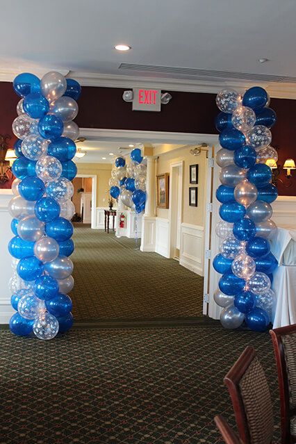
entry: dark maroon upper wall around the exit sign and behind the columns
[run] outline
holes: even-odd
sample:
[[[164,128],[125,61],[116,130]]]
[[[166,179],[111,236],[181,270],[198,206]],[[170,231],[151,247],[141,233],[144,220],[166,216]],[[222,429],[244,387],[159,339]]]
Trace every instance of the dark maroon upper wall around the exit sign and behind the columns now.
[[[151,113],[132,111],[131,104],[122,100],[123,91],[121,88],[83,87],[77,124],[82,128],[217,133],[215,94],[172,91],[170,104],[163,105],[161,113]],[[0,83],[0,98],[0,133],[11,133],[19,99],[11,83]],[[296,161],[296,100],[272,99],[271,107],[277,113],[272,145],[279,151],[279,165],[283,165],[286,158]],[[296,170],[292,174],[292,187],[285,188],[278,183],[280,195],[296,195]],[[280,177],[287,183],[283,172]]]

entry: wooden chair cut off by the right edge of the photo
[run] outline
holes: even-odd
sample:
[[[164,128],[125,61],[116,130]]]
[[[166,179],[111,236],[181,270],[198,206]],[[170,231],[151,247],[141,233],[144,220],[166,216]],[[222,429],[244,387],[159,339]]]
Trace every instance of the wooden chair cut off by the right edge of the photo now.
[[[281,403],[281,444],[296,442],[296,324],[270,330]]]

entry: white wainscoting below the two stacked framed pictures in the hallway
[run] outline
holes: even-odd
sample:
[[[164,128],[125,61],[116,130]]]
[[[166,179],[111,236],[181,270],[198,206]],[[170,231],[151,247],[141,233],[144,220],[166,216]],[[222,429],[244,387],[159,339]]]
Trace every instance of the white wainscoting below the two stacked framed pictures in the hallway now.
[[[180,265],[204,276],[204,227],[181,224]]]

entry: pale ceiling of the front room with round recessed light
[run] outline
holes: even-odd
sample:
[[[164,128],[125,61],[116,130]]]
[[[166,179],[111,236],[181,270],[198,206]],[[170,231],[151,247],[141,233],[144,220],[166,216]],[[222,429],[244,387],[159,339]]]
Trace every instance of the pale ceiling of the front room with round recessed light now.
[[[119,69],[131,63],[296,76],[295,0],[10,0],[1,17],[0,72],[141,76]],[[175,69],[145,76],[192,79]]]

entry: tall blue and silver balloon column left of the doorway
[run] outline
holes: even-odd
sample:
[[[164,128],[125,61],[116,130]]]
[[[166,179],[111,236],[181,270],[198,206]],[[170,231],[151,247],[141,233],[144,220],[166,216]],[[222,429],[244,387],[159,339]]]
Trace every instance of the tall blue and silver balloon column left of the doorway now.
[[[10,330],[19,336],[33,331],[48,340],[73,324],[67,293],[74,286],[71,181],[77,172],[72,158],[79,128],[72,120],[81,86],[48,72],[41,81],[19,74],[13,88],[21,99],[13,121],[17,159],[12,167],[15,197],[9,203],[14,234],[8,245],[14,270],[9,286],[17,311]]]

